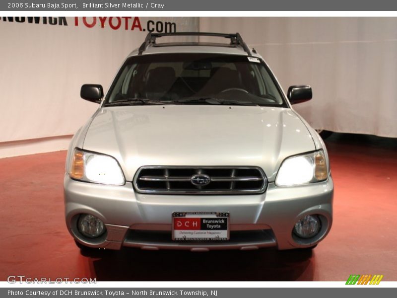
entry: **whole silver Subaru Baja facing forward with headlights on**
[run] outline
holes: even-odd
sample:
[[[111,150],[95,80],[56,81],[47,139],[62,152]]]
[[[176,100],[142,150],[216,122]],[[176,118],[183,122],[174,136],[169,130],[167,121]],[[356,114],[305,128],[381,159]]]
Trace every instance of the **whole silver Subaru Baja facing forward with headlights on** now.
[[[161,42],[168,36],[218,43]],[[227,42],[223,42],[226,40]],[[327,149],[239,33],[149,33],[66,157],[66,225],[81,249],[313,248],[332,224]]]

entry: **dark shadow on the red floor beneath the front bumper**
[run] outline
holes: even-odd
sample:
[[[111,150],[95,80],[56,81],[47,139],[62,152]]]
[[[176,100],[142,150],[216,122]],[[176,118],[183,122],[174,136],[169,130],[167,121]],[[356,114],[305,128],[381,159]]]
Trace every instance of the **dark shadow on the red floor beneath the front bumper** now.
[[[87,258],[97,281],[312,281],[315,252],[146,251],[123,248]]]

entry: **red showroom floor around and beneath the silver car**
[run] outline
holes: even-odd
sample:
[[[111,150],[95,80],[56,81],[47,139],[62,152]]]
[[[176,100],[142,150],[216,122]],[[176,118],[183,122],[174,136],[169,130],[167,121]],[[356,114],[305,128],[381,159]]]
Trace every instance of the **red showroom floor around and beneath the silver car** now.
[[[343,281],[350,274],[383,274],[384,281],[396,281],[397,139],[334,134],[327,146],[335,183],[334,221],[313,254],[124,249],[85,257],[64,223],[66,152],[0,159],[0,280],[24,275],[105,281]],[[227,270],[217,269],[219,264]]]

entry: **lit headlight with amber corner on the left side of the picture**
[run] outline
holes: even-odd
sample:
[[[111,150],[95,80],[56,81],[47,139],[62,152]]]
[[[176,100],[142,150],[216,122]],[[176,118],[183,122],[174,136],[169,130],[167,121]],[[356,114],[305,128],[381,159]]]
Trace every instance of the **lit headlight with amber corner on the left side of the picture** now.
[[[74,149],[71,178],[101,184],[124,185],[126,180],[119,163],[109,155]]]

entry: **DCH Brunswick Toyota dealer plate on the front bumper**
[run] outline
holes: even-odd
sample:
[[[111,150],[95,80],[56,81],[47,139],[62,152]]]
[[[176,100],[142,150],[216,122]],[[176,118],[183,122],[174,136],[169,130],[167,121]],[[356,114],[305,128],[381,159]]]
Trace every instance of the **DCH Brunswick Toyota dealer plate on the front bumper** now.
[[[172,240],[229,240],[228,212],[174,212]]]

